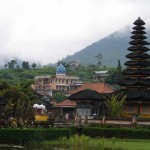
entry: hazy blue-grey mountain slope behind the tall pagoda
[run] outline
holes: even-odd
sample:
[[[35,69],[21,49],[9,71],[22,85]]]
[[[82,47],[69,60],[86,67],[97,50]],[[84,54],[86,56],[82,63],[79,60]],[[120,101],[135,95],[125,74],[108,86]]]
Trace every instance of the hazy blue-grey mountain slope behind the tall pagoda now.
[[[129,53],[127,48],[130,46],[132,29],[126,27],[120,31],[116,31],[109,36],[98,40],[97,42],[87,46],[86,48],[74,53],[73,55],[63,58],[62,61],[69,62],[73,60],[79,60],[82,65],[96,64],[97,56],[99,53],[102,54],[102,65],[106,66],[117,66],[117,60],[121,61],[123,65],[126,58],[125,55]],[[146,36],[147,41],[150,41],[150,29],[147,30]]]

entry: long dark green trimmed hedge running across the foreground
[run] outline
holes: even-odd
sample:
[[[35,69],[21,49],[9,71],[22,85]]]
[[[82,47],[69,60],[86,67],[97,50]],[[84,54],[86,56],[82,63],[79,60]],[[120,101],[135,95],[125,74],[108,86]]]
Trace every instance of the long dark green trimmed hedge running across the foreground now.
[[[38,128],[38,129],[0,129],[0,144],[20,144],[28,142],[57,140],[74,134],[84,134],[93,138],[130,138],[150,139],[148,129],[71,127],[71,128]]]

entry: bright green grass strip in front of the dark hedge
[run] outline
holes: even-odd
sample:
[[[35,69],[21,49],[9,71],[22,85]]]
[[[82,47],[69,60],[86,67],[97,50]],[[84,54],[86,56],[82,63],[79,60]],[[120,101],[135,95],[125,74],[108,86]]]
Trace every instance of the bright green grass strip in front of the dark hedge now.
[[[62,138],[57,141],[43,141],[42,143],[34,143],[32,148],[43,150],[150,150],[150,140],[135,139],[105,139],[90,138],[87,136],[74,135],[73,137]],[[51,148],[51,149],[50,149]]]

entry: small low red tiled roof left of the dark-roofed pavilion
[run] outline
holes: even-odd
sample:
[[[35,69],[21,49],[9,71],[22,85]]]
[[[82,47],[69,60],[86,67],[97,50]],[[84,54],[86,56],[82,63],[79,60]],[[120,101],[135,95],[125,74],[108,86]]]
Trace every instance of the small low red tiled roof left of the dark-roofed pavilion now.
[[[54,105],[54,107],[76,107],[77,103],[75,101],[71,101],[71,100],[64,100],[60,103],[57,103]]]

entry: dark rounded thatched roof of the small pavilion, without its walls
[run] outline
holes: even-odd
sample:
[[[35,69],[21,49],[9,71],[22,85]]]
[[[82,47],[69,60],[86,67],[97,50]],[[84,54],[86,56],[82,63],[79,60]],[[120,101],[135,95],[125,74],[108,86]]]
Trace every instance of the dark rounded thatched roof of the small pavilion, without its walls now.
[[[104,94],[100,94],[95,90],[81,90],[77,93],[72,94],[68,97],[69,100],[102,100],[104,101],[105,98],[103,97]]]

